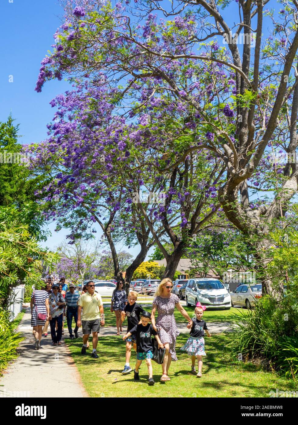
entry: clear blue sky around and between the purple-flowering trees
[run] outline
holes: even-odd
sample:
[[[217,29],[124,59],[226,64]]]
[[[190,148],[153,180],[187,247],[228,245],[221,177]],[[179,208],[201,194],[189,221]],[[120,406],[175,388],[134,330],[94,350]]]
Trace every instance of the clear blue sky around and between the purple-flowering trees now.
[[[57,0],[1,0],[0,11],[0,120],[6,120],[11,112],[16,123],[20,124],[20,135],[23,136],[20,143],[40,142],[47,137],[46,125],[54,115],[49,102],[69,88],[64,80],[53,80],[43,86],[41,93],[34,91],[40,62],[48,50],[53,50],[53,34],[61,24],[63,9]],[[236,19],[237,4],[232,3],[225,10],[225,15],[228,22]],[[13,82],[9,82],[10,76]],[[67,230],[56,233],[54,227],[54,224],[49,224],[53,236],[43,244],[51,249],[68,234]],[[101,235],[99,229],[97,235]],[[117,248],[121,249],[122,245]],[[135,255],[139,251],[138,246],[129,251]]]

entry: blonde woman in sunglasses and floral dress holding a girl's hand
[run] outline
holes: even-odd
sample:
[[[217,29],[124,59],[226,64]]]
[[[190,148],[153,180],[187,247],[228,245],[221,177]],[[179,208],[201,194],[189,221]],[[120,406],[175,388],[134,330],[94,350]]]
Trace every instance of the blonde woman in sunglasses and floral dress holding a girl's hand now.
[[[175,307],[179,310],[183,317],[188,320],[189,324],[192,324],[187,312],[180,304],[180,300],[177,295],[172,294],[173,282],[170,278],[162,279],[153,300],[152,312],[151,312],[151,323],[153,328],[156,330],[156,326],[159,327],[159,337],[162,344],[165,347],[165,358],[162,363],[162,377],[160,380],[170,381],[168,371],[172,359],[177,360],[175,344],[176,338],[179,335],[179,330],[176,326],[176,320],[174,317]],[[155,312],[157,309],[157,319],[155,323]]]

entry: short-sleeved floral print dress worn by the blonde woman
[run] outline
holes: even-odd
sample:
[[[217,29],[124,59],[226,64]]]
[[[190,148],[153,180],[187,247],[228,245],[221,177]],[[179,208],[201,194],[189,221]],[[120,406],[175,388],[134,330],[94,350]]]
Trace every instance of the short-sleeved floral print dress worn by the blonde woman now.
[[[175,305],[180,302],[177,295],[172,294],[170,298],[155,297],[153,304],[157,306],[156,326],[159,326],[159,337],[162,344],[168,343],[172,360],[176,361],[176,338],[180,334],[174,317]]]

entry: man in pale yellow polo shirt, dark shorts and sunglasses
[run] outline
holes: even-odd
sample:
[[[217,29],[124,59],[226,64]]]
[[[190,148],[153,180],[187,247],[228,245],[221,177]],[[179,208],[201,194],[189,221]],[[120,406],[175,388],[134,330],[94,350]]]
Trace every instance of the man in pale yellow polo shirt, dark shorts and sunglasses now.
[[[81,353],[86,354],[86,347],[89,335],[92,332],[92,345],[93,350],[91,357],[94,359],[98,359],[98,355],[96,353],[96,348],[98,344],[98,332],[100,325],[105,326],[104,320],[104,311],[103,311],[103,302],[102,297],[94,292],[95,285],[92,280],[90,280],[87,285],[87,292],[83,294],[78,301],[78,321],[77,326],[80,328],[82,325],[83,331],[83,346]],[[83,315],[82,315],[83,309]],[[100,313],[100,323],[99,323],[99,313]],[[81,321],[82,316],[82,321]]]

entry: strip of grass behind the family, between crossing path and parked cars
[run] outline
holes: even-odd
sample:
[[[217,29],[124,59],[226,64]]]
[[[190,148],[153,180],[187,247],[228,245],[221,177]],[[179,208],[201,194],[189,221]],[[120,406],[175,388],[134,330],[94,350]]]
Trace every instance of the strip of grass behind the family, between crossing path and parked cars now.
[[[142,306],[142,302],[139,303]],[[116,316],[115,313],[111,313],[110,306],[105,306],[105,326],[116,326]],[[144,305],[144,309],[148,310],[148,312],[151,312],[152,306],[146,306]],[[187,311],[190,317],[194,316],[194,307],[184,307],[184,309]],[[229,319],[232,319],[235,314],[247,314],[246,309],[237,309],[235,307],[232,307],[230,310],[209,310],[204,312],[204,320],[207,323],[208,322],[229,322]],[[185,323],[187,324],[186,320],[182,316],[182,314],[175,309],[174,310],[175,320],[176,323]],[[156,314],[157,317],[157,314]],[[127,320],[124,321],[124,326],[127,324]]]

